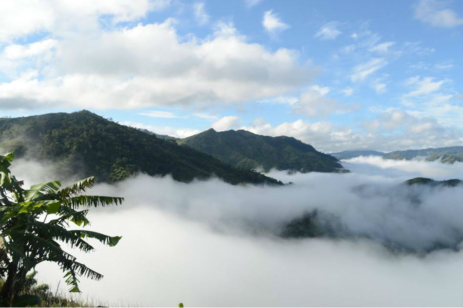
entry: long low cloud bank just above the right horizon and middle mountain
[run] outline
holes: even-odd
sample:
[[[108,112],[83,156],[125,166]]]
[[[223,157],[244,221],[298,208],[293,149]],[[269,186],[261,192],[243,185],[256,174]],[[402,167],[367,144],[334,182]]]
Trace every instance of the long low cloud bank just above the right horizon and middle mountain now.
[[[428,115],[415,116],[399,109],[385,111],[376,119],[366,121],[362,128],[367,130],[303,119],[278,125],[259,120],[240,128],[261,135],[291,136],[324,152],[361,148],[390,152],[463,144],[461,129],[445,127]]]

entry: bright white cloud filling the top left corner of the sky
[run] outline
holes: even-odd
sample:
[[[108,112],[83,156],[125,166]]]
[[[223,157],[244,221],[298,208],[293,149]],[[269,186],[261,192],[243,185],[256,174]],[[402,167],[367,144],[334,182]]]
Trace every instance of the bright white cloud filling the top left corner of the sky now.
[[[89,33],[99,28],[101,16],[111,23],[132,21],[169,4],[169,0],[0,1],[0,42],[39,32]]]

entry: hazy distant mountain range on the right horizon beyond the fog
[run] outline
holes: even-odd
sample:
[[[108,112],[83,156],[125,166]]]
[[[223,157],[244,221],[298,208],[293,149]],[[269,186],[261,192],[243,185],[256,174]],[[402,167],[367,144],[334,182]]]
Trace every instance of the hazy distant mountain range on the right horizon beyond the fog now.
[[[427,148],[421,150],[405,150],[383,153],[371,150],[355,150],[331,153],[332,156],[339,160],[350,159],[358,156],[382,156],[386,159],[410,160],[417,157],[423,157],[428,161],[440,159],[443,163],[463,162],[463,146],[448,146],[438,148]]]

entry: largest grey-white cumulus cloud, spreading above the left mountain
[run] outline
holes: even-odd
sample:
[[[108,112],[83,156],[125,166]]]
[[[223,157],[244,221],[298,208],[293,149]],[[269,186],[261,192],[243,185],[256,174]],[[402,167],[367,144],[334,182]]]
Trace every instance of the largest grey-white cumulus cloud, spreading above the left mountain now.
[[[295,91],[318,72],[296,51],[249,43],[229,24],[199,40],[179,36],[172,19],[65,37],[55,49],[46,71],[0,83],[3,108],[243,103]]]

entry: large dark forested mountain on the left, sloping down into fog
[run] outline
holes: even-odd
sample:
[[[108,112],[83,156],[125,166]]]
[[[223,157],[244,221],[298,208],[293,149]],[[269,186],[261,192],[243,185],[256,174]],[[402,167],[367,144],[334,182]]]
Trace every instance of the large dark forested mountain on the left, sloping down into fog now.
[[[122,180],[137,172],[177,181],[215,175],[231,184],[281,182],[222,163],[186,145],[157,138],[83,110],[74,113],[0,118],[0,148],[18,157],[52,162],[60,173]]]

